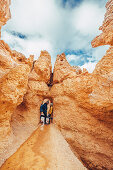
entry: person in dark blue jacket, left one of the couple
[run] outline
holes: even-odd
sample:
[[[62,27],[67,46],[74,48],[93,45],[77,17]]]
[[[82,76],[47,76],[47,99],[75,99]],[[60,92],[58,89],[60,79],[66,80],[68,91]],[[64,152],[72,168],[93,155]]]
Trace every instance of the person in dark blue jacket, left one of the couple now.
[[[49,104],[49,101],[45,102],[44,104],[41,104],[40,106],[40,119],[41,117],[44,117],[44,124],[46,124],[46,118],[47,118],[47,105]],[[42,115],[42,113],[44,114],[44,116]]]

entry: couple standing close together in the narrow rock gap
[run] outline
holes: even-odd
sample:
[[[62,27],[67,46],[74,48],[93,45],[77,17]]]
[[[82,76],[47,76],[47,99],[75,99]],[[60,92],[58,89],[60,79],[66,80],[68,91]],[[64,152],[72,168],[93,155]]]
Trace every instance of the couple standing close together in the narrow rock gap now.
[[[53,113],[53,103],[50,103],[49,100],[43,102],[40,106],[40,122],[41,122],[41,118],[44,117],[44,124],[47,124],[46,118],[49,118],[49,124],[50,124],[50,120],[52,122],[53,119],[52,113]]]

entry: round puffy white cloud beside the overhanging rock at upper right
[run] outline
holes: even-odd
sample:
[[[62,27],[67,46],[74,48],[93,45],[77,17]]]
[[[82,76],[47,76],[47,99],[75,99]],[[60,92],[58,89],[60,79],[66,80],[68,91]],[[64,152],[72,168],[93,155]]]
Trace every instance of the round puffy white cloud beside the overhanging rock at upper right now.
[[[83,35],[94,36],[99,33],[98,27],[104,19],[105,8],[95,2],[83,2],[73,11],[73,23],[76,30]]]

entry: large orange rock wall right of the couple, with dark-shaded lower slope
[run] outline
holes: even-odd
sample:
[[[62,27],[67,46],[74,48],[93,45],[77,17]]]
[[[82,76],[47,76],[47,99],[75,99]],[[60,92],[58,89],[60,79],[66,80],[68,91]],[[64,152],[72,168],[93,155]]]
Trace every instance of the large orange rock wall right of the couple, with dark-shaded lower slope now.
[[[108,52],[106,56],[109,60]],[[109,74],[113,71],[112,60],[109,63]],[[110,95],[113,83],[109,87],[109,74],[102,77],[102,74],[96,72],[103,62],[105,63],[105,57],[93,74],[83,72],[73,77],[68,76],[71,66],[67,65],[67,77],[54,84],[51,89],[55,123],[73,151],[77,151],[85,165],[92,169],[110,169],[113,165],[113,98]],[[62,73],[66,64],[63,63],[61,67],[58,61],[55,65]],[[59,80],[57,71],[53,75]],[[56,82],[58,80],[56,78]]]

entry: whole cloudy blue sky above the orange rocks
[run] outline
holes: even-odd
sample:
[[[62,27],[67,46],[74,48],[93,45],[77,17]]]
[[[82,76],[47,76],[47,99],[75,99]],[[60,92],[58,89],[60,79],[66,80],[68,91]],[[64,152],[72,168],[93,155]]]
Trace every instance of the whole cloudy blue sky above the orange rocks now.
[[[91,47],[100,34],[107,0],[12,0],[11,20],[2,28],[2,39],[29,57],[47,50],[52,57],[65,52],[71,65],[92,72],[108,46]]]

